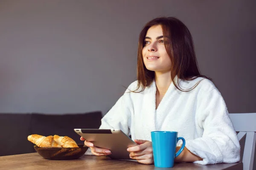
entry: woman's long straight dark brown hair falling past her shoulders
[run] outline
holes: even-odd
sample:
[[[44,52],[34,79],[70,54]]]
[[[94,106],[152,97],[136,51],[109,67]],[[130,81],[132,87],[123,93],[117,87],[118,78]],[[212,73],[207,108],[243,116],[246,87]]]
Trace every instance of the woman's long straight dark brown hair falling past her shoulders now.
[[[155,18],[143,27],[140,32],[139,45],[138,45],[138,58],[137,58],[137,80],[138,85],[137,89],[133,92],[141,92],[144,89],[151,85],[154,80],[155,74],[154,71],[150,71],[145,67],[143,62],[142,50],[145,46],[145,36],[148,29],[151,26],[160,25],[163,29],[163,36],[169,37],[165,43],[165,48],[167,54],[171,58],[172,68],[171,68],[171,77],[172,82],[177,89],[180,91],[191,91],[193,90],[198,83],[197,82],[189,90],[183,90],[180,88],[179,81],[175,81],[175,77],[183,80],[193,80],[198,77],[208,77],[201,75],[198,69],[198,63],[195,57],[194,43],[192,36],[189,32],[189,29],[183,24],[180,20],[175,17],[159,17]],[[179,88],[177,87],[179,86]],[[142,88],[141,91],[137,91],[139,88]]]

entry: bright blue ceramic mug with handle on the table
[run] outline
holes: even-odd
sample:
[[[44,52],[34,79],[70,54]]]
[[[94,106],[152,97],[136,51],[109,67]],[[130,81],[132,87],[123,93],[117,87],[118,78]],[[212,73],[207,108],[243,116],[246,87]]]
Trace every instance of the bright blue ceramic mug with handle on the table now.
[[[172,131],[151,132],[155,167],[173,167],[174,159],[180,155],[186,144],[183,137],[178,138],[177,136],[178,133]],[[176,144],[180,139],[183,141],[183,144],[180,150],[175,153]]]

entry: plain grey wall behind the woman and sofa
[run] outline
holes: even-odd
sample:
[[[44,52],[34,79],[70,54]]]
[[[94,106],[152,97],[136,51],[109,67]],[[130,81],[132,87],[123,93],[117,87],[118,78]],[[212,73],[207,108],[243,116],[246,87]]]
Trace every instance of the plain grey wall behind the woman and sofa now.
[[[175,16],[231,113],[256,112],[255,0],[0,0],[0,112],[104,114],[136,79],[144,24]]]

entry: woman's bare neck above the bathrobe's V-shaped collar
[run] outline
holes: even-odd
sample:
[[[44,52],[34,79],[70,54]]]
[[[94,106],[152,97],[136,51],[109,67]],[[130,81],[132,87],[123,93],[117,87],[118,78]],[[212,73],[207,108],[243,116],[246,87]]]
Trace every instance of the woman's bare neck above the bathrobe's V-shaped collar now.
[[[157,93],[160,96],[164,96],[172,83],[171,73],[169,71],[164,73],[155,71],[155,82],[157,86]]]

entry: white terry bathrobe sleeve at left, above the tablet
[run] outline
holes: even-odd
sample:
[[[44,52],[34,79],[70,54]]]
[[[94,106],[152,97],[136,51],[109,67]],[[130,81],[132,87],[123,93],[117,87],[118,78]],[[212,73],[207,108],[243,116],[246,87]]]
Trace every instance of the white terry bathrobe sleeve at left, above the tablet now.
[[[132,83],[128,89],[132,89],[137,85],[136,82]],[[133,113],[133,105],[131,102],[130,90],[126,90],[125,93],[118,99],[116,104],[110,111],[102,118],[100,129],[120,129],[126,135],[131,135],[131,113]]]

